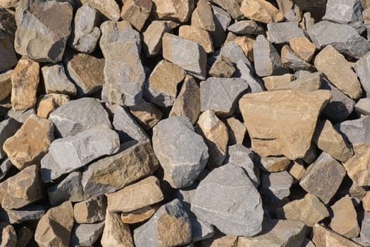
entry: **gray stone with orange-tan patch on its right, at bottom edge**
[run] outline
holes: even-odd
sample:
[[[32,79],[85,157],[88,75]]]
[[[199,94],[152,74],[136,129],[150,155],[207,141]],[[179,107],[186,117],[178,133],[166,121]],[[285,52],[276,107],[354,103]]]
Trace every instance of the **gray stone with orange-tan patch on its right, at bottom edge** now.
[[[180,246],[191,240],[190,219],[178,199],[162,205],[148,222],[134,230],[137,247]]]

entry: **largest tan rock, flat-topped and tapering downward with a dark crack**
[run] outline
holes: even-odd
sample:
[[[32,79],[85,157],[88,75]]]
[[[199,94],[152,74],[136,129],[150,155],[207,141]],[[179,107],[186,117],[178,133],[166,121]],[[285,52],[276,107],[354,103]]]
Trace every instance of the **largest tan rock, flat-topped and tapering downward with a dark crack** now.
[[[261,156],[284,155],[292,160],[304,157],[311,146],[317,117],[330,98],[327,90],[244,95],[239,107],[254,151]]]

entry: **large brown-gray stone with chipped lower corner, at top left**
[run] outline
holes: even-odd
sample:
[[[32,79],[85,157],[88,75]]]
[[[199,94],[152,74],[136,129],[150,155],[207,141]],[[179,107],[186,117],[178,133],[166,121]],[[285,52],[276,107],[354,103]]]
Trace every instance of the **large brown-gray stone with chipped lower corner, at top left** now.
[[[68,2],[20,1],[16,8],[16,52],[39,62],[61,61],[72,18]]]

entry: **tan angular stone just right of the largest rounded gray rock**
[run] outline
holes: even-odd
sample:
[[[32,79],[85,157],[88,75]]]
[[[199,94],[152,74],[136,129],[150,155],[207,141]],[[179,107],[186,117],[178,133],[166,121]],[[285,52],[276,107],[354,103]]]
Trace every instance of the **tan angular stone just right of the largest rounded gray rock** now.
[[[279,219],[289,219],[303,222],[308,227],[329,216],[325,205],[315,195],[307,193],[300,200],[292,200],[278,209]]]

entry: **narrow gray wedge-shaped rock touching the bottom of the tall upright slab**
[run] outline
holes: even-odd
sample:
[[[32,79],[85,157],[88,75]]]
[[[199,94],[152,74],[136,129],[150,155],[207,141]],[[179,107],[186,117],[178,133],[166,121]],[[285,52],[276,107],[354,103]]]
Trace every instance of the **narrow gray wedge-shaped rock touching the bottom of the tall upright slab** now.
[[[147,133],[140,127],[139,123],[121,106],[114,108],[113,127],[118,132],[121,143],[129,140],[149,140]]]

